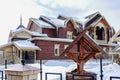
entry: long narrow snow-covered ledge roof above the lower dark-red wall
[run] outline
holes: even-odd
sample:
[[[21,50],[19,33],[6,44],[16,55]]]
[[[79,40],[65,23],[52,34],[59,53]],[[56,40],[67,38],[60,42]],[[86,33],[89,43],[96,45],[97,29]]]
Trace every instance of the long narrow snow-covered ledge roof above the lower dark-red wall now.
[[[59,42],[72,42],[72,39],[63,39],[63,38],[50,38],[50,37],[35,37],[31,38],[31,41],[33,40],[46,40],[46,41],[59,41]]]

